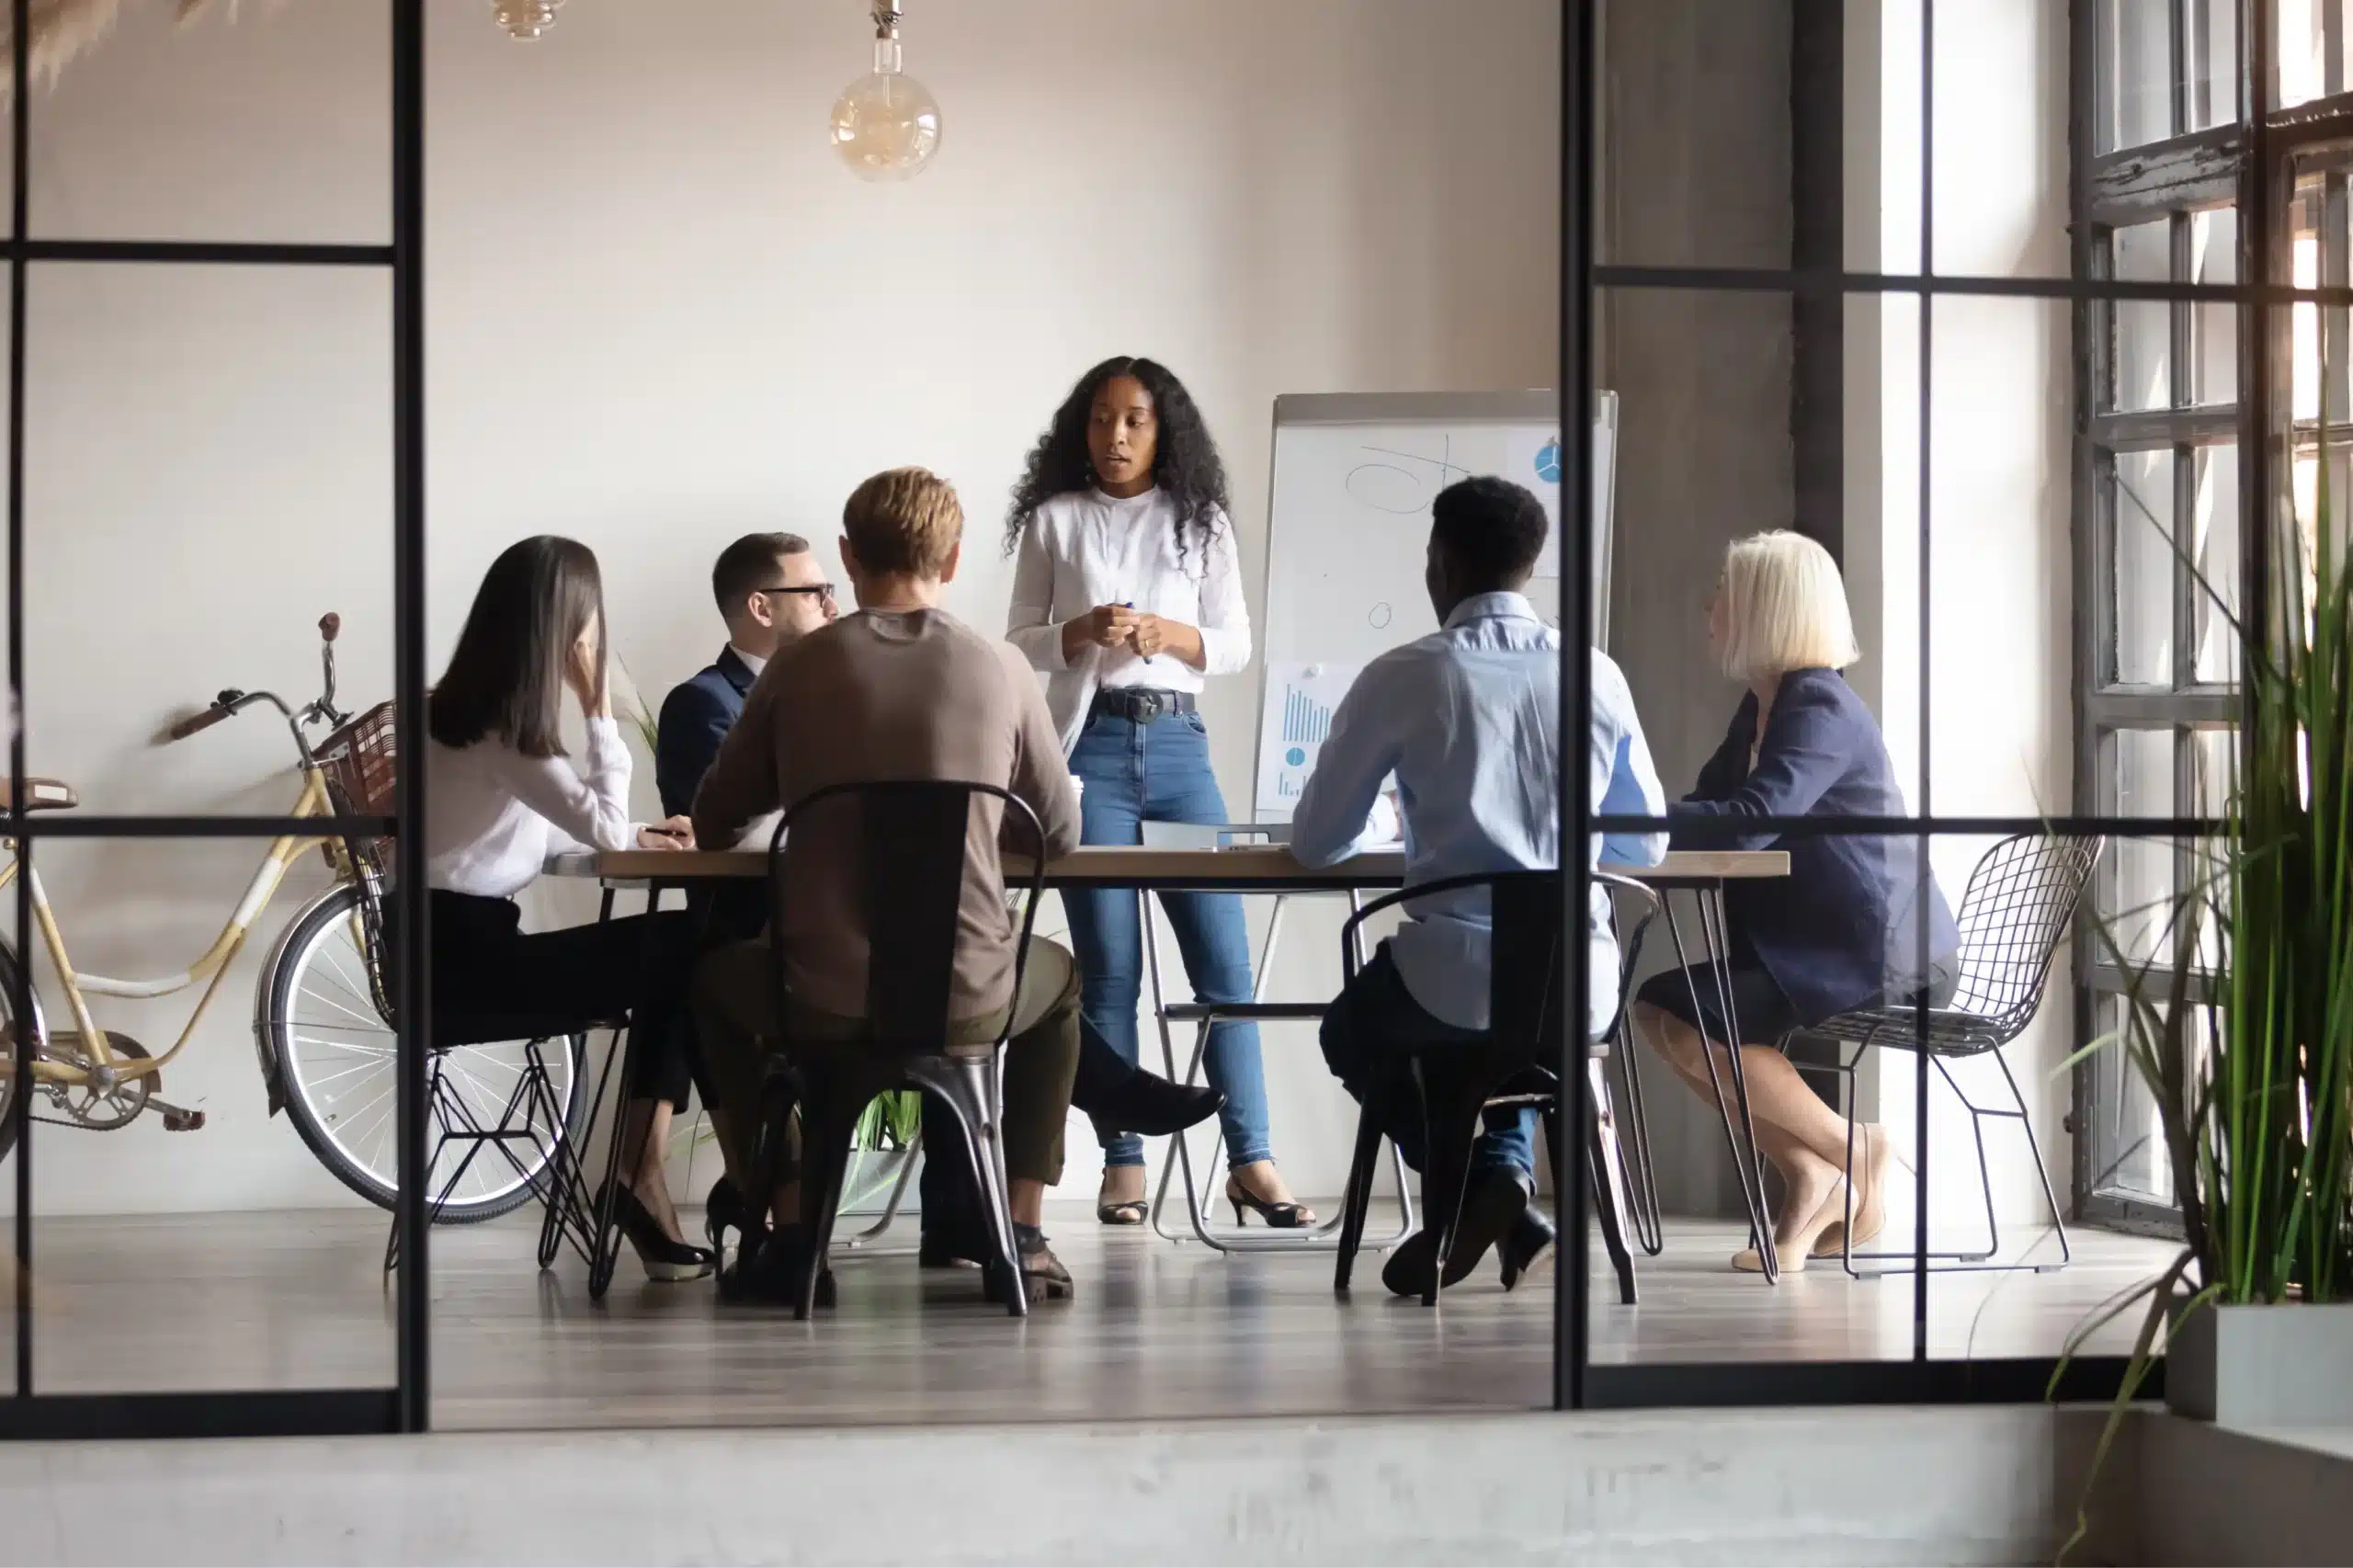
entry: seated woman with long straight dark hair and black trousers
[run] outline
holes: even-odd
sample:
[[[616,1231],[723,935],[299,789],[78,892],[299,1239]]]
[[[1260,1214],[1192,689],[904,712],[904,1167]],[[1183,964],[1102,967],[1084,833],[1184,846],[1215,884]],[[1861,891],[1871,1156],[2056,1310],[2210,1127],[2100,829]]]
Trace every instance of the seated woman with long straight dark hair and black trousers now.
[[[574,768],[562,744],[572,692],[588,725]],[[515,895],[572,848],[682,850],[692,824],[628,819],[628,746],[605,683],[605,584],[595,553],[539,534],[489,563],[449,669],[426,699],[426,885],[435,1029],[532,1019],[565,1031],[631,1015],[635,1092],[621,1118],[621,1231],[656,1281],[711,1274],[680,1238],[661,1175],[671,1107],[687,1102],[685,911],[522,932]]]

